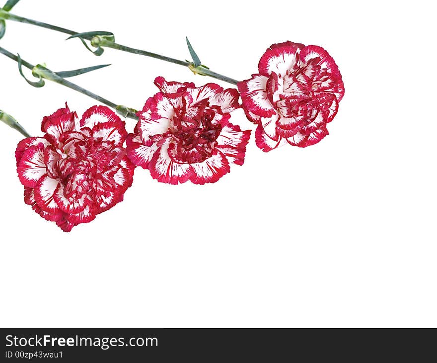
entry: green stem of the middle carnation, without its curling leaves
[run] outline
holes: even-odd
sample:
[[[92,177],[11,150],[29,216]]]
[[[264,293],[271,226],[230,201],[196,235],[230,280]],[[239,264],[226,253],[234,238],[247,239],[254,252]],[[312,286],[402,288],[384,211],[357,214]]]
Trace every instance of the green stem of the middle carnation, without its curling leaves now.
[[[15,62],[18,62],[18,57],[12,53],[10,53],[9,51],[7,51],[4,48],[0,47],[0,53],[4,54],[6,57],[13,59]],[[107,100],[106,98],[103,98],[101,96],[99,96],[98,94],[95,94],[91,91],[85,90],[84,88],[77,86],[76,84],[67,81],[66,79],[58,76],[55,72],[52,72],[51,70],[41,66],[41,65],[37,65],[37,66],[33,66],[32,64],[30,64],[29,62],[26,62],[25,60],[21,60],[21,64],[30,69],[32,71],[32,74],[34,76],[39,76],[40,78],[43,78],[45,80],[49,80],[55,83],[58,83],[60,85],[63,85],[65,87],[71,88],[74,91],[80,92],[82,94],[85,94],[91,98],[94,98],[95,100],[106,104],[107,106],[114,108],[118,113],[122,114],[124,117],[129,117],[132,118],[134,120],[138,120],[138,116],[135,114],[135,110],[132,108],[128,108],[126,106],[121,106],[121,105],[117,105],[114,102],[111,102],[109,100]]]

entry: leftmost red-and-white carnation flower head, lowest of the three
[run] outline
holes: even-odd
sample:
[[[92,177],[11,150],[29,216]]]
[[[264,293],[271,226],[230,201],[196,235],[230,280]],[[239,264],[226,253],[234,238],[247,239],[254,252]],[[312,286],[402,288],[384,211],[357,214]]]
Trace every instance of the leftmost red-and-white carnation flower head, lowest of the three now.
[[[67,106],[43,118],[43,137],[29,137],[15,151],[24,201],[65,232],[123,200],[135,166],[126,156],[125,123],[105,106],[79,121]]]

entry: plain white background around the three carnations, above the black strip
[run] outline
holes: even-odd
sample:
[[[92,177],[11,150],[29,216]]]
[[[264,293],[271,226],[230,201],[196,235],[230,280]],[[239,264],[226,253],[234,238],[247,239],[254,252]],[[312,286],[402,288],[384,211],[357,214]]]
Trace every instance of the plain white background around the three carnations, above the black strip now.
[[[4,0],[3,0],[4,2]],[[173,186],[137,169],[125,201],[62,232],[23,202],[0,125],[2,327],[436,327],[436,46],[429,1],[20,1],[13,13],[121,44],[189,57],[236,79],[272,43],[321,45],[346,94],[330,135],[263,153],[215,184]],[[72,79],[141,108],[156,76],[218,82],[8,22],[0,45],[54,71],[112,63]],[[28,86],[0,55],[0,109],[32,134],[68,100]],[[31,78],[30,73],[26,75]],[[218,82],[220,83],[220,82]],[[232,87],[220,83],[224,87]],[[242,110],[232,115],[253,125]],[[128,130],[134,121],[127,120]]]

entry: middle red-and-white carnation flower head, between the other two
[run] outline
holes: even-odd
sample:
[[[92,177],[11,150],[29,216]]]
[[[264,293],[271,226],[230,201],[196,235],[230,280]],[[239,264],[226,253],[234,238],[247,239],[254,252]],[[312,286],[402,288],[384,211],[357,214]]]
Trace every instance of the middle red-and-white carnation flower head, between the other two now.
[[[239,107],[238,91],[162,77],[155,85],[160,92],[137,113],[140,120],[126,142],[135,165],[170,184],[216,182],[229,164],[243,165],[250,130],[229,122],[229,112]]]

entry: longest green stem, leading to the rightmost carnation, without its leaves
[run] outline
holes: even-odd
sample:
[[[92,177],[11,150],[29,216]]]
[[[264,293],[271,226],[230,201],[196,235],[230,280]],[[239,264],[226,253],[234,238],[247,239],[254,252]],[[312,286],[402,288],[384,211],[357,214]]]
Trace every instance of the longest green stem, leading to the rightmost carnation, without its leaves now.
[[[13,21],[21,22],[21,23],[32,24],[32,25],[43,27],[43,28],[59,31],[59,32],[62,32],[62,33],[65,33],[65,34],[70,34],[70,35],[79,34],[79,33],[75,32],[73,30],[62,28],[60,26],[51,25],[51,24],[43,23],[43,22],[40,22],[40,21],[37,21],[37,20],[32,20],[32,19],[28,19],[28,18],[25,18],[25,17],[22,17],[22,16],[14,15],[14,14],[11,14],[11,13],[9,13],[7,11],[2,10],[2,9],[0,9],[0,19],[13,20]],[[101,37],[98,37],[98,36],[92,37],[92,36],[89,36],[89,35],[83,35],[83,36],[81,36],[81,38],[87,39],[87,40],[92,40],[91,44],[93,46],[96,46],[96,47],[97,46],[99,46],[99,47],[107,47],[107,48],[113,48],[113,49],[121,50],[123,52],[128,52],[128,53],[133,53],[133,54],[140,54],[140,55],[143,55],[143,56],[146,56],[146,57],[151,57],[151,58],[159,59],[161,61],[170,62],[170,63],[178,64],[180,66],[188,67],[195,74],[200,74],[200,75],[203,75],[203,76],[209,76],[209,77],[215,78],[217,80],[230,83],[232,85],[237,85],[238,84],[237,80],[234,80],[233,78],[229,78],[229,77],[223,76],[223,75],[221,75],[219,73],[210,71],[208,68],[205,68],[205,67],[202,67],[202,66],[194,68],[192,62],[181,61],[179,59],[174,59],[174,58],[171,58],[171,57],[162,56],[160,54],[156,54],[156,53],[152,53],[152,52],[147,52],[145,50],[127,47],[125,45],[117,44],[117,43],[114,43],[112,41],[108,41],[106,39],[102,39]]]

